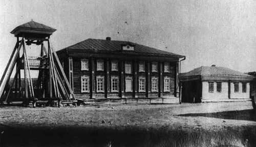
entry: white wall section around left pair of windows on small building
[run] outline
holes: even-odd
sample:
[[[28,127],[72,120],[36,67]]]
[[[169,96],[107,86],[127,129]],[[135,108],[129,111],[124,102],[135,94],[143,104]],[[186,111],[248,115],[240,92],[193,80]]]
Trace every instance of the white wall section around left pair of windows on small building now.
[[[214,82],[214,92],[209,93],[208,81],[202,82],[202,100],[204,99],[228,99],[228,82],[221,83],[221,93],[217,92],[217,82]]]

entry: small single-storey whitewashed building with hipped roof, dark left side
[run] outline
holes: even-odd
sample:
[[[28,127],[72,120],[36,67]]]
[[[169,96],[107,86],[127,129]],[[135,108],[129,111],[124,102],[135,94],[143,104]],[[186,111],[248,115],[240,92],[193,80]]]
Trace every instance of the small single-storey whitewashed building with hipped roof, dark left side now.
[[[202,66],[182,73],[182,102],[250,100],[253,76],[225,67]]]

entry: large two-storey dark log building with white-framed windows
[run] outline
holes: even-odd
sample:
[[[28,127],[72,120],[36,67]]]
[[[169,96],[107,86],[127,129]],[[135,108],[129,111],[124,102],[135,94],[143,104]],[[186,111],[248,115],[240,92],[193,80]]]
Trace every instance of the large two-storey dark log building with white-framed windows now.
[[[110,37],[84,40],[57,55],[76,98],[161,97],[179,102],[183,55]]]

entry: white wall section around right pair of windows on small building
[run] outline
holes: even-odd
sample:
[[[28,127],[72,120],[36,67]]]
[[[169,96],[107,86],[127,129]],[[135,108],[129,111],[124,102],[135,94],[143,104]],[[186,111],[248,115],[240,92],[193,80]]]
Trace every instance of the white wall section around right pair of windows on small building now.
[[[246,83],[246,93],[242,92],[242,82],[239,82],[239,92],[234,92],[234,83],[230,83],[230,99],[244,99],[244,98],[250,98],[250,84]]]

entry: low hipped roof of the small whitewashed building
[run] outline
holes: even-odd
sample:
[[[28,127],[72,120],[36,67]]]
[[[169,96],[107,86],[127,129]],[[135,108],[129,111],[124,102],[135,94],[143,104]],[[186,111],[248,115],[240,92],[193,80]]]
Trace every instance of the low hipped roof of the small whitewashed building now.
[[[248,74],[231,70],[226,67],[216,67],[216,66],[201,66],[199,68],[196,68],[194,70],[191,70],[186,73],[181,73],[181,78],[185,77],[199,77],[201,76],[202,79],[225,79],[225,80],[231,80],[234,78],[253,78],[253,76],[250,76]],[[211,78],[209,78],[211,77]]]

